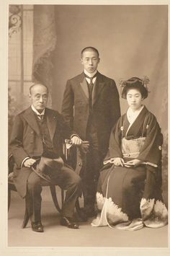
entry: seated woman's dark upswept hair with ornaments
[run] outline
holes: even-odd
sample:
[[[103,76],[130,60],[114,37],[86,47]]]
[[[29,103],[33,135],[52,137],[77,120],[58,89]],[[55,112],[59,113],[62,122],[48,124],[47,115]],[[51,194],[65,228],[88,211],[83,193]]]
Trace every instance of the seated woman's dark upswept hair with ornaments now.
[[[122,83],[122,98],[126,99],[129,89],[138,89],[143,99],[148,97],[148,88],[146,87],[145,81],[138,78],[132,77]]]

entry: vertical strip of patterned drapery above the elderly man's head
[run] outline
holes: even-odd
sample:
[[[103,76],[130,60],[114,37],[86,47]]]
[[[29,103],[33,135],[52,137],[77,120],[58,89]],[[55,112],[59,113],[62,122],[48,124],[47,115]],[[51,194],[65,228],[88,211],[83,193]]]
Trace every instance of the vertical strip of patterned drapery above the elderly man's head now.
[[[53,83],[53,50],[56,44],[54,11],[53,5],[34,6],[32,80],[42,82],[50,91]]]

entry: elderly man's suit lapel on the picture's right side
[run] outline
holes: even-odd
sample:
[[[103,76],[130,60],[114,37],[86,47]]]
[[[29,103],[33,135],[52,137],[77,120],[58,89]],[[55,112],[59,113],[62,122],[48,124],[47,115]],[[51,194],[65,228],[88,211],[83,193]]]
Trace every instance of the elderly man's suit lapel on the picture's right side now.
[[[50,112],[48,108],[45,109],[45,115],[47,118],[47,124],[48,124],[48,131],[50,133],[51,141],[53,141],[53,136],[55,133],[56,125],[57,125],[57,117],[53,114],[53,112]]]

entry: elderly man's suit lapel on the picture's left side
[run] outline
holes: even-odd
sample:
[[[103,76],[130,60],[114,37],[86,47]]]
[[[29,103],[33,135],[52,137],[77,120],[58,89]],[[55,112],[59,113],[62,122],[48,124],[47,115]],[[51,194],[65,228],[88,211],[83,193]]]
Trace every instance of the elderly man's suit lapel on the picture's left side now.
[[[35,118],[35,114],[31,107],[29,107],[27,110],[25,110],[23,114],[24,119],[29,123],[29,125],[32,127],[32,129],[40,135],[40,128],[37,124],[37,120]]]

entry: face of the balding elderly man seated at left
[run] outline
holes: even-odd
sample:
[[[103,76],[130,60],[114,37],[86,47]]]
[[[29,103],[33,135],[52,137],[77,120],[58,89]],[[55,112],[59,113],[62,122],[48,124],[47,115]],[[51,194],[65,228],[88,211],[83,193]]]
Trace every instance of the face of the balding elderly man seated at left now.
[[[30,100],[35,109],[42,112],[48,102],[48,89],[42,84],[35,84],[31,89]]]

